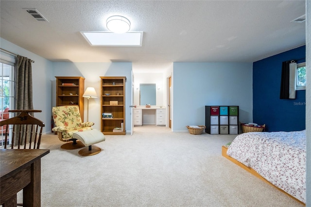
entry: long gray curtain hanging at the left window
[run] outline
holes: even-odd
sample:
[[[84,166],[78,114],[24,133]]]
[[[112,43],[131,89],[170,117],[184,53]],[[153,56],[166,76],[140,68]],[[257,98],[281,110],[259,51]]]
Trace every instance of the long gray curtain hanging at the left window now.
[[[31,63],[31,59],[17,55],[17,70],[15,74],[15,109],[34,109]],[[30,114],[34,116],[34,113]],[[23,135],[20,141],[24,143],[26,126],[22,129],[22,131]],[[18,137],[15,137],[15,143],[17,142]]]

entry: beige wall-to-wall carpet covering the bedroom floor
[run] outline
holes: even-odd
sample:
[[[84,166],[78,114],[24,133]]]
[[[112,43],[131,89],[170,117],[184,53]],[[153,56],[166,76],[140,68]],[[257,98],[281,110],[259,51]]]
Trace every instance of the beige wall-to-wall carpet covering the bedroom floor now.
[[[221,155],[236,135],[191,135],[166,127],[135,127],[105,136],[102,152],[62,150],[56,135],[40,149],[42,207],[301,207]],[[22,194],[18,193],[18,201]]]

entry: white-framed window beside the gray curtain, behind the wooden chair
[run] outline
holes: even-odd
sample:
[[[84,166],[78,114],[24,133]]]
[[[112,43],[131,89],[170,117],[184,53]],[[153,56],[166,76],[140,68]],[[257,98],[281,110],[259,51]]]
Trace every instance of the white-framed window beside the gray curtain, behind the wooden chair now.
[[[14,63],[0,60],[0,115],[1,120],[11,117],[8,110],[14,109]],[[0,147],[4,145],[5,127],[0,128]],[[9,133],[10,135],[11,133]],[[11,139],[10,139],[11,140]]]

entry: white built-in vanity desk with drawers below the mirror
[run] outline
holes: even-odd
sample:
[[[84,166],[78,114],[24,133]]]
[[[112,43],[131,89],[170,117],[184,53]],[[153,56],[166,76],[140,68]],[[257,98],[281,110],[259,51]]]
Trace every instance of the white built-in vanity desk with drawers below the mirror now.
[[[134,125],[166,125],[166,109],[161,107],[137,107],[133,109]]]

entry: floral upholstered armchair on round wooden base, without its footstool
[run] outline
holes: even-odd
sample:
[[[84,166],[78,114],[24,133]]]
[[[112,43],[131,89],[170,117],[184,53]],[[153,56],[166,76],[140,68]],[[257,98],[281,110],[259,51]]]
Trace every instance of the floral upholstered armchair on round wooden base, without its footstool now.
[[[84,147],[82,143],[78,143],[73,138],[73,133],[92,130],[93,122],[81,121],[79,106],[56,106],[52,108],[53,120],[56,127],[52,131],[57,132],[57,136],[61,141],[71,142],[62,145],[63,149],[78,149]]]

